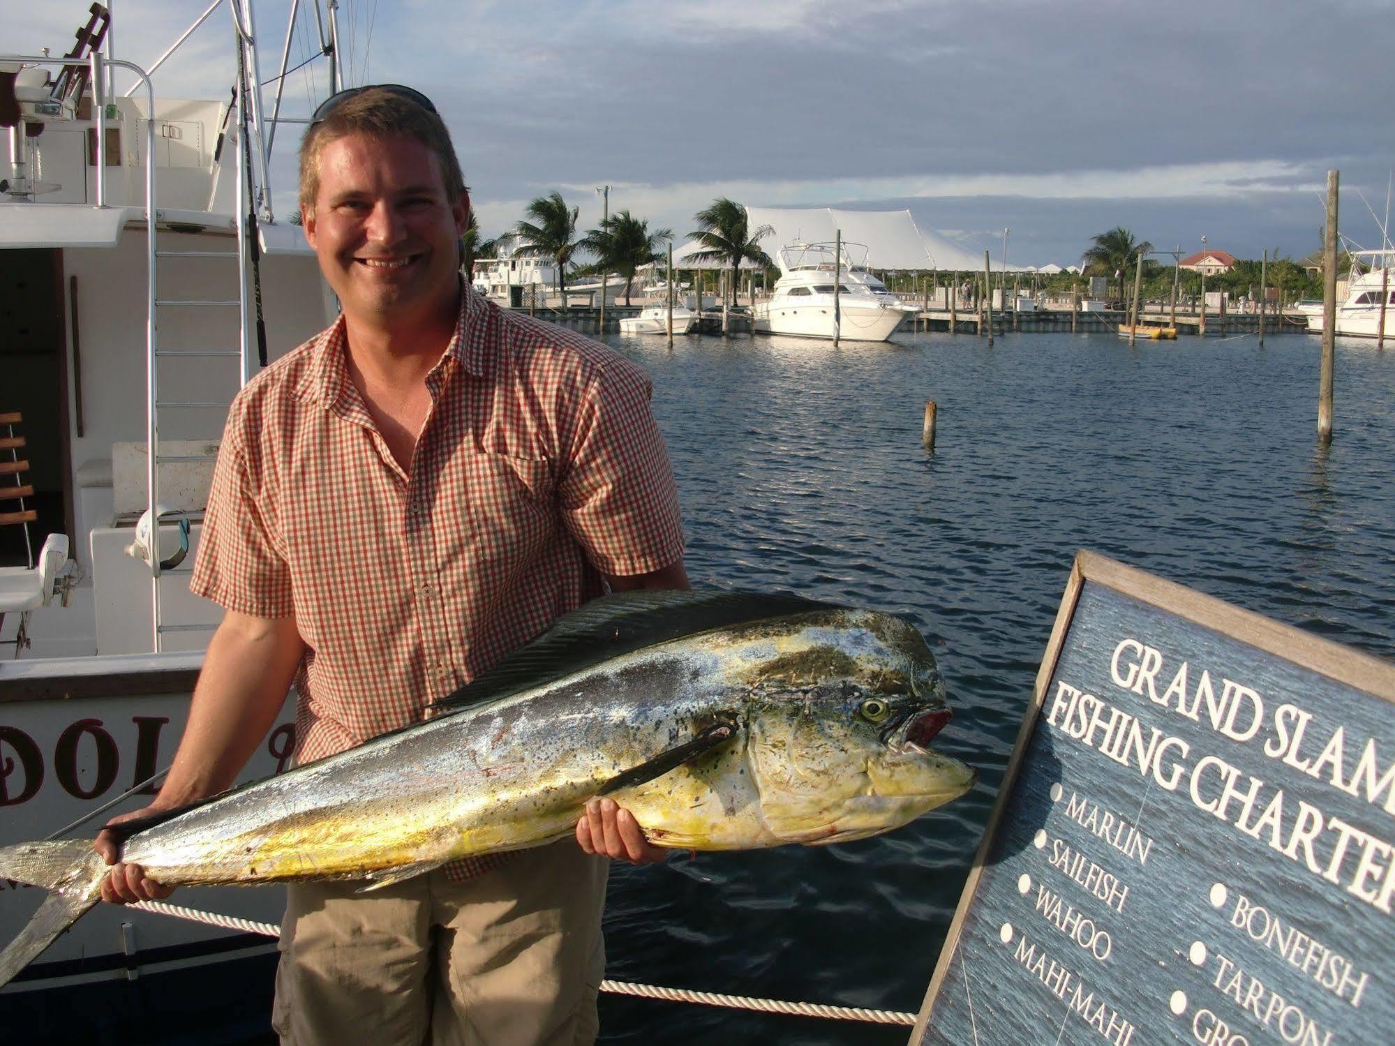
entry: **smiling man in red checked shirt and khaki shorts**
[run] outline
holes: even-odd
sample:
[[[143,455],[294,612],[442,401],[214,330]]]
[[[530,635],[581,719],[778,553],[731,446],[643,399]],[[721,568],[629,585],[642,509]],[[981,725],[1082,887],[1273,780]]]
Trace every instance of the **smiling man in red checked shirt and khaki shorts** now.
[[[140,813],[232,785],[293,682],[304,763],[427,718],[607,584],[688,587],[647,375],[462,283],[469,198],[431,102],[396,85],[331,96],[300,176],[343,312],[229,410],[190,584],[226,614]],[[371,893],[292,884],[272,1024],[296,1046],[589,1043],[603,858],[661,856],[605,799],[575,841]],[[135,865],[103,887],[166,895]]]

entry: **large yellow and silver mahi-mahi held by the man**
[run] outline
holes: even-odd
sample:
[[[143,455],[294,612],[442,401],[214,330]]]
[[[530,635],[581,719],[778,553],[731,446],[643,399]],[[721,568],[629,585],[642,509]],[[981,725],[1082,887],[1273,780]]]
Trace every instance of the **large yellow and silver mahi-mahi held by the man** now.
[[[610,795],[650,842],[751,849],[859,840],[975,773],[929,748],[950,718],[921,635],[797,596],[611,596],[432,706],[416,725],[191,806],[116,826],[166,886],[402,881],[537,847]],[[0,953],[8,983],[100,898],[89,840],[0,847],[50,891]]]

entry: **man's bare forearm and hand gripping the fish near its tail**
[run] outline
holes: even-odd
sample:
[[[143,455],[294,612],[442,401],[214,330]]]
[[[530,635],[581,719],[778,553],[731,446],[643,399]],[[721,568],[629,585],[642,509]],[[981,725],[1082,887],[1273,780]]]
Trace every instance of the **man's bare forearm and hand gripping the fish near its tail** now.
[[[227,611],[209,640],[188,724],[165,785],[144,810],[110,823],[169,810],[229,788],[276,721],[304,649],[294,618]],[[98,835],[95,845],[113,866],[102,884],[105,901],[155,901],[172,893],[146,879],[140,865],[119,863],[121,848],[109,833]]]

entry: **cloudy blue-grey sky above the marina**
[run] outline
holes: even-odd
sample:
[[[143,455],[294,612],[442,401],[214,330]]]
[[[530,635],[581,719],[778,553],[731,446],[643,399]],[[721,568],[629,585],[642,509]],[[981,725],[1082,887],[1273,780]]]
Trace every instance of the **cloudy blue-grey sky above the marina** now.
[[[117,54],[153,61],[208,1],[112,0]],[[7,50],[61,53],[86,4],[0,8]],[[314,46],[301,8],[292,66]],[[255,6],[264,81],[289,10]],[[1342,232],[1366,247],[1395,169],[1389,0],[340,0],[339,24],[352,82],[435,100],[487,233],[554,188],[589,227],[610,184],[612,211],[679,236],[730,195],[910,208],[995,258],[1009,226],[1021,265],[1073,262],[1115,225],[1158,247],[1204,234],[1302,257],[1329,167]],[[156,89],[223,98],[233,61],[219,11]],[[319,60],[290,75],[286,110],[325,84]],[[276,145],[280,209],[293,144]]]

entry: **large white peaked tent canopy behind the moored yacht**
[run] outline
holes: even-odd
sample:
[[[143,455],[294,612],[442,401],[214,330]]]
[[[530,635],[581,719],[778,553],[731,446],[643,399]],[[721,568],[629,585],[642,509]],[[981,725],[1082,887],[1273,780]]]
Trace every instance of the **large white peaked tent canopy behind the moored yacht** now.
[[[935,233],[925,233],[910,211],[834,211],[833,208],[748,206],[752,229],[771,226],[774,236],[760,245],[771,258],[792,243],[833,243],[841,232],[844,243],[864,244],[873,269],[960,269],[978,272],[983,259],[956,247]],[[995,259],[995,269],[1002,261]]]

